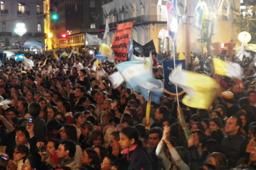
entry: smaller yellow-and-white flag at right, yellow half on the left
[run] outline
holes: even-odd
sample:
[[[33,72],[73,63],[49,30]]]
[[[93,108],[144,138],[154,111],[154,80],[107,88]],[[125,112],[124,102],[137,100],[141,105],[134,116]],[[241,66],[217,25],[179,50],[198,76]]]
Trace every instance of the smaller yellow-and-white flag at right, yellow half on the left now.
[[[219,58],[213,58],[213,66],[215,74],[242,79],[243,71],[237,63],[225,62]]]

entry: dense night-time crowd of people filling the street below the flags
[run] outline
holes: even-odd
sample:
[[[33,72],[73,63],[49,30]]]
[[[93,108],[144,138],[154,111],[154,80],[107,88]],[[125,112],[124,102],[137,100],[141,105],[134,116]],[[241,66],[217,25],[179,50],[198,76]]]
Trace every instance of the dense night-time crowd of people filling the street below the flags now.
[[[195,62],[195,55],[188,69],[205,73],[210,59],[198,55]],[[160,104],[151,102],[147,124],[141,94],[125,83],[114,89],[107,76],[96,74],[111,75],[114,63],[94,68],[95,59],[82,52],[60,60],[52,52],[25,56],[34,67],[5,59],[0,68],[0,170],[256,168],[250,62],[243,65],[243,80],[209,74],[222,88],[209,110],[182,104],[184,94],[178,106],[175,96],[165,94]],[[153,61],[155,78],[163,80],[163,66],[155,56]]]

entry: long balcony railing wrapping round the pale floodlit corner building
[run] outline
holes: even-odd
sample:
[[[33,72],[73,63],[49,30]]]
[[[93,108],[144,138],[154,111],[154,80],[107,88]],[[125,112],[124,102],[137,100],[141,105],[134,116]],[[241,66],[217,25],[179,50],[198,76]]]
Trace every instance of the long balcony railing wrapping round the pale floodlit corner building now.
[[[163,15],[143,15],[123,20],[118,20],[117,22],[109,23],[109,28],[117,27],[118,24],[122,24],[125,22],[134,22],[134,24],[142,23],[142,22],[166,22],[167,17]],[[99,26],[99,29],[105,29],[106,25]]]

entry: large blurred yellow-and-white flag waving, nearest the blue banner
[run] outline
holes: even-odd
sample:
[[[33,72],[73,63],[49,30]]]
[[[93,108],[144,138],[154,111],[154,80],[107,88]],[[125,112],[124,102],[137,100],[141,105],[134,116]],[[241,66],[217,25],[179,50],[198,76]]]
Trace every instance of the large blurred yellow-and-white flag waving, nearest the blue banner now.
[[[209,109],[219,88],[213,78],[182,70],[181,65],[171,72],[169,80],[186,91],[183,104],[199,109]]]

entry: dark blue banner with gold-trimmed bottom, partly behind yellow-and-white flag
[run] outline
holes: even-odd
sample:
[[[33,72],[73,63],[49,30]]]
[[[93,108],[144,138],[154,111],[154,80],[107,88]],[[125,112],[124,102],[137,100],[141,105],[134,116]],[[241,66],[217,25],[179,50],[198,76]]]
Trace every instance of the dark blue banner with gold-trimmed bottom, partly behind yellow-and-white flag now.
[[[179,64],[182,64],[182,69],[186,70],[186,60],[176,60],[176,66]],[[171,95],[176,95],[176,87],[173,83],[170,82],[169,80],[169,75],[174,69],[174,61],[163,61],[163,73],[164,73],[164,92],[171,94]],[[185,93],[185,91],[178,87],[178,95]]]

